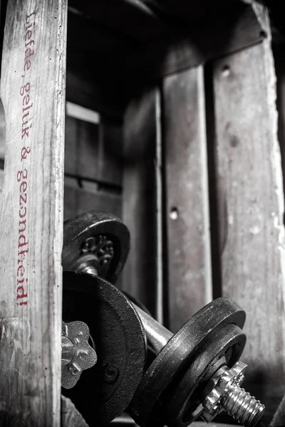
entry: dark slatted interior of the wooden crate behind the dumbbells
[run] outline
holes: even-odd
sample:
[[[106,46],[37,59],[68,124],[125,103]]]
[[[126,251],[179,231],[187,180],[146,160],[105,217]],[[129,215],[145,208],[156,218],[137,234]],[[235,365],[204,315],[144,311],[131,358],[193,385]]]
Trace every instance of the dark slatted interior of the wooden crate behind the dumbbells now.
[[[186,3],[69,1],[64,218],[99,209],[123,219],[132,240],[119,286],[173,332],[213,298],[239,303],[246,387],[269,421],[285,382],[269,27],[239,0]],[[283,48],[274,45],[282,162]],[[1,112],[0,185],[4,134]]]

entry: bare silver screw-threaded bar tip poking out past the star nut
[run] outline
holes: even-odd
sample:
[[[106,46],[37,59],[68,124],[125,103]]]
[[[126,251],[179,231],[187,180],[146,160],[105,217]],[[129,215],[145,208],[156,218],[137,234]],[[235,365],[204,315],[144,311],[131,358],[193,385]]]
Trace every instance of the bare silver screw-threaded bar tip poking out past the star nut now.
[[[253,427],[264,413],[265,406],[237,384],[231,384],[221,402],[227,411],[242,426]]]

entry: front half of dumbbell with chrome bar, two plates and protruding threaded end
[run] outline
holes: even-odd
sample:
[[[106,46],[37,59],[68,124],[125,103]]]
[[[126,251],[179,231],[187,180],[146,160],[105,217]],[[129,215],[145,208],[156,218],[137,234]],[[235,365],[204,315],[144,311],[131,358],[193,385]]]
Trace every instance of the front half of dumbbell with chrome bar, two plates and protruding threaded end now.
[[[186,427],[199,416],[210,422],[221,411],[244,426],[259,421],[264,405],[240,387],[247,368],[238,362],[246,342],[243,310],[218,298],[173,335],[135,308],[157,352],[129,406],[140,427]]]

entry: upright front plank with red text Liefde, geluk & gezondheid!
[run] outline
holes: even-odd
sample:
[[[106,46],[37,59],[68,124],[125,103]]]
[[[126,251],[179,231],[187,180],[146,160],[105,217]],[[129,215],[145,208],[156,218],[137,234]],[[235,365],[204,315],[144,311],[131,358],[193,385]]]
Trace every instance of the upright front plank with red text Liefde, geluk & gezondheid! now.
[[[1,426],[59,426],[65,0],[9,0],[0,210]]]

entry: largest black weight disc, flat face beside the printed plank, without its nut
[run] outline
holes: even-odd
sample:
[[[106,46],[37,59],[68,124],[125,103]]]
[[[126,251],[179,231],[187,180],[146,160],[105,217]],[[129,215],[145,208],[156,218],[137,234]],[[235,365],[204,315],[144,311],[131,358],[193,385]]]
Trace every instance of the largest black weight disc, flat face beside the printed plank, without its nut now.
[[[106,280],[63,273],[63,322],[86,322],[98,362],[81,374],[73,389],[63,389],[90,427],[104,425],[127,408],[142,378],[145,331],[133,305]]]

